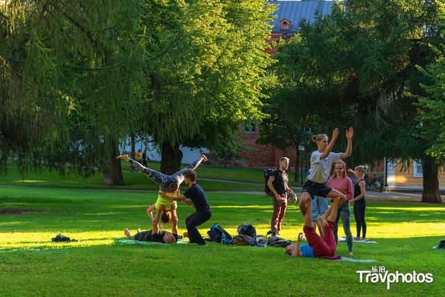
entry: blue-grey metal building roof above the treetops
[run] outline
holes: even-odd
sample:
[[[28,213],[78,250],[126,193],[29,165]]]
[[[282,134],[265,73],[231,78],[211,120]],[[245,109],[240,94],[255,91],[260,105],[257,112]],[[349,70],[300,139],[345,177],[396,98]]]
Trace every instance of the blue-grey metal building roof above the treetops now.
[[[316,22],[316,12],[321,16],[330,13],[333,1],[268,1],[277,4],[277,10],[272,15],[277,15],[273,19],[272,33],[296,33],[300,30],[300,21],[306,19],[309,23]],[[291,22],[289,30],[282,30],[282,19]]]

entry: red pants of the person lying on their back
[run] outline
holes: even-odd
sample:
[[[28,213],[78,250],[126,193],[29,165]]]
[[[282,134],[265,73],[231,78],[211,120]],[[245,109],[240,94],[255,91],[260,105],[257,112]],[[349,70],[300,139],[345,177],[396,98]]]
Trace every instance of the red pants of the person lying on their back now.
[[[314,249],[315,257],[332,257],[335,254],[337,246],[335,244],[334,222],[330,220],[327,221],[328,226],[325,226],[325,239],[322,239],[318,234],[316,234],[314,228],[305,225],[303,231],[306,235],[306,240],[309,246]]]

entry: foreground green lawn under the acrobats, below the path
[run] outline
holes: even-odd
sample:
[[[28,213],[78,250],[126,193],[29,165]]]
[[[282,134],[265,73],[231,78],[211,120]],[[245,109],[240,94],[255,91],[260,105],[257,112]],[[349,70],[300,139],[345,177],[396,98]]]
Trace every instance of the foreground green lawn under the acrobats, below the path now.
[[[231,234],[252,223],[269,229],[270,200],[259,195],[209,193],[213,216]],[[0,188],[0,209],[42,212],[0,215],[0,295],[35,296],[441,296],[445,251],[445,206],[373,203],[366,209],[368,237],[355,243],[354,257],[375,264],[300,259],[283,248],[139,246],[114,243],[124,227],[149,228],[145,214],[154,193],[88,189]],[[180,232],[193,211],[180,204]],[[353,223],[354,225],[354,223]],[[283,236],[295,239],[302,216],[291,205]],[[340,227],[341,230],[341,227]],[[353,227],[355,230],[355,227]],[[51,243],[61,232],[79,243]],[[339,232],[343,235],[343,231]],[[346,255],[346,243],[338,252]],[[385,266],[392,273],[432,273],[432,284],[360,284],[358,270]]]

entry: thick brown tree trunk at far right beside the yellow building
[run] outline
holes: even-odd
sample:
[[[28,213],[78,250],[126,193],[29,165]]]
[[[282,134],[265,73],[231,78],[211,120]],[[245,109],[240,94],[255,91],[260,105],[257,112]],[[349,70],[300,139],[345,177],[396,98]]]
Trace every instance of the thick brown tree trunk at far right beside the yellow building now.
[[[442,203],[439,192],[439,172],[437,163],[430,156],[422,159],[423,169],[423,193],[422,202]]]

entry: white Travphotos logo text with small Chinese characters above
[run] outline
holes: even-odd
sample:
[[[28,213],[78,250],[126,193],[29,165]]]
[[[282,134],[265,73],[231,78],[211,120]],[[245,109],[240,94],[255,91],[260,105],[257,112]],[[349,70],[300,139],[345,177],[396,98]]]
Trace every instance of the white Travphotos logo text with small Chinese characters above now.
[[[386,282],[387,289],[391,288],[391,284],[394,282],[432,282],[432,273],[417,273],[412,271],[412,273],[389,273],[385,266],[373,266],[370,271],[359,270],[357,271],[360,275],[360,282]]]

